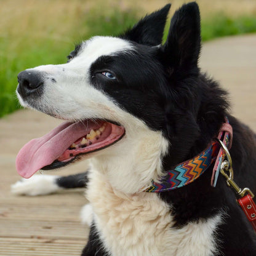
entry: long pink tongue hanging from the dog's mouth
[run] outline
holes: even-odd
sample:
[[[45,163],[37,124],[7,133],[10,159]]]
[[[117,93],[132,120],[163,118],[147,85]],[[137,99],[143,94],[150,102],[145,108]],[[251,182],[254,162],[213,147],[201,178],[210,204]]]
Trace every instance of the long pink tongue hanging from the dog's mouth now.
[[[92,122],[64,122],[41,138],[34,138],[18,152],[18,174],[30,178],[44,166],[52,164],[73,142],[99,127]]]

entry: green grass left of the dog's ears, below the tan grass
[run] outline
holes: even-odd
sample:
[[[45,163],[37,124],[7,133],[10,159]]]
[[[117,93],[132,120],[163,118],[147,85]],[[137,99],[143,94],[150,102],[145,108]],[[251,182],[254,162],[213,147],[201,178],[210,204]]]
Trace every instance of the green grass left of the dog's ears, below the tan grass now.
[[[15,95],[20,71],[39,65],[65,63],[66,56],[79,40],[95,35],[118,35],[137,20],[135,12],[114,9],[107,14],[90,10],[83,16],[79,27],[70,31],[68,40],[55,38],[54,31],[50,30],[49,36],[43,38],[29,33],[22,33],[22,38],[0,36],[0,117],[20,107]]]

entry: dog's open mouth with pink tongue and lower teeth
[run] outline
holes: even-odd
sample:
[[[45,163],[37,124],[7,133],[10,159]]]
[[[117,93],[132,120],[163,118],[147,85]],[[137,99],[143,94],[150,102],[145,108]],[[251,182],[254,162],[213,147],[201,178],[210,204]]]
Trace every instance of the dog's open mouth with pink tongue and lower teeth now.
[[[41,138],[26,143],[16,159],[18,174],[30,178],[39,169],[66,166],[82,155],[118,142],[124,127],[102,120],[64,122]]]

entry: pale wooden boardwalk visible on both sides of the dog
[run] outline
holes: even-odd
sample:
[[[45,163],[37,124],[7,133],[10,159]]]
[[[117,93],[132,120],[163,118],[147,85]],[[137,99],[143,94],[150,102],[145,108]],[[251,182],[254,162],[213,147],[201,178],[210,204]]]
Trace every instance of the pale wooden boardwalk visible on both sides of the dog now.
[[[256,34],[209,42],[202,49],[201,66],[230,90],[233,113],[256,131],[255,46]],[[20,179],[15,170],[18,150],[60,122],[29,110],[0,119],[0,256],[79,256],[86,244],[88,227],[79,220],[86,204],[82,190],[38,197],[10,194],[10,185]],[[81,162],[45,174],[75,174],[84,169]]]

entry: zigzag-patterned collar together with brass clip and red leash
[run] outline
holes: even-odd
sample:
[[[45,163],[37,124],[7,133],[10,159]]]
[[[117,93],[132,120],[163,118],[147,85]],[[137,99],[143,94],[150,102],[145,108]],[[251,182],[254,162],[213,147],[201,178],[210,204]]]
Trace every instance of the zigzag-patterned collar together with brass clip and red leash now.
[[[212,170],[211,186],[216,186],[219,174],[226,178],[226,183],[236,194],[239,206],[244,211],[247,219],[251,223],[256,232],[256,204],[252,200],[254,194],[249,188],[240,188],[234,182],[234,172],[232,167],[232,159],[230,152],[233,139],[233,129],[225,119],[217,138],[212,140],[210,146],[202,151],[198,156],[182,162],[169,170],[167,174],[161,178],[159,183],[152,180],[151,186],[143,189],[145,192],[161,193],[165,191],[175,190],[182,186],[188,185],[199,178],[215,161]]]

